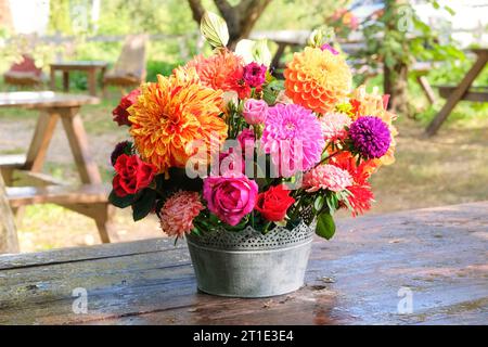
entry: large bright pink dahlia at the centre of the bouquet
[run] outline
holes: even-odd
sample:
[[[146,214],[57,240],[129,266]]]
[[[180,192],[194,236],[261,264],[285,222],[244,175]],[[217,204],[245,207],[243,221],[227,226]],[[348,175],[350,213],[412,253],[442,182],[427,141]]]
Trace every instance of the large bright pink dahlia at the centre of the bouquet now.
[[[277,104],[268,110],[261,144],[281,176],[291,177],[309,170],[320,160],[325,141],[320,121],[311,111],[296,104]]]

